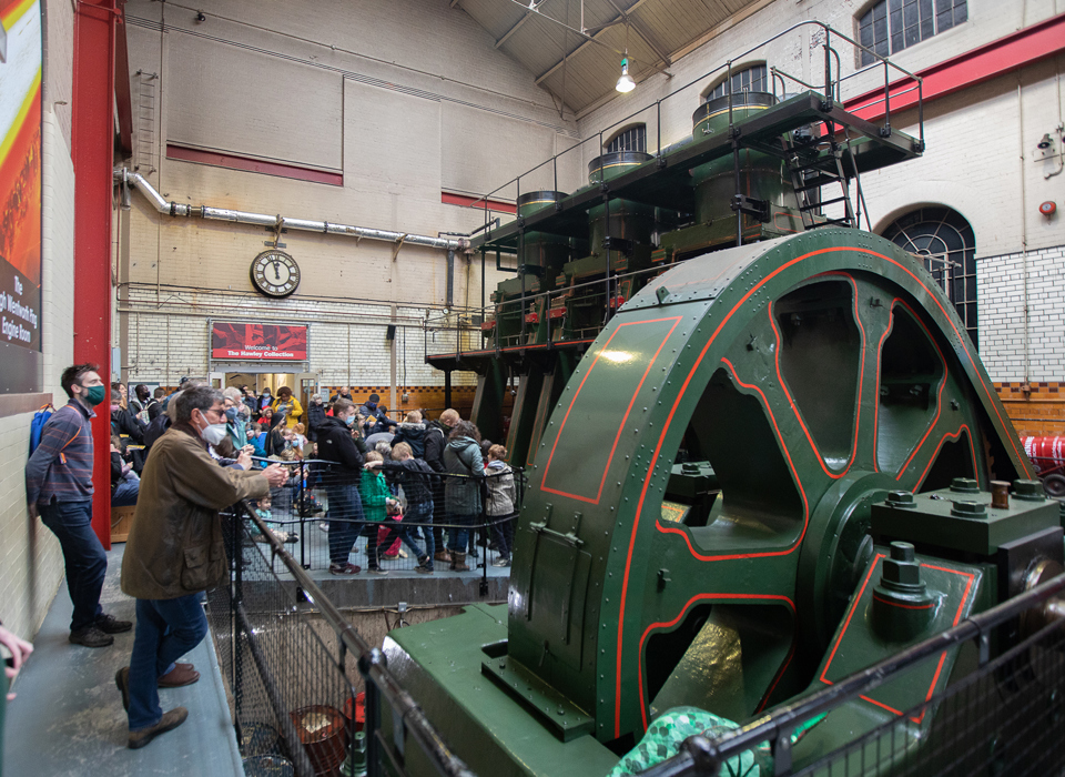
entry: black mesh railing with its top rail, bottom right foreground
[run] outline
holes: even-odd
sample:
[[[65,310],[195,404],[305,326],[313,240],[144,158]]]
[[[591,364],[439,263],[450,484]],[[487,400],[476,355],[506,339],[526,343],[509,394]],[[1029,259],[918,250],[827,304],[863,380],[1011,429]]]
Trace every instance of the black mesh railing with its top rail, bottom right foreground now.
[[[960,623],[714,739],[684,740],[680,751],[641,777],[737,774],[753,754],[759,774],[1017,775],[1065,769],[1065,575]],[[991,646],[1017,628],[1026,637],[991,658]],[[794,735],[820,716],[868,695],[952,647],[968,649],[976,668],[957,683],[812,763],[795,764]],[[920,743],[914,722],[934,715]],[[809,729],[807,729],[809,730]]]

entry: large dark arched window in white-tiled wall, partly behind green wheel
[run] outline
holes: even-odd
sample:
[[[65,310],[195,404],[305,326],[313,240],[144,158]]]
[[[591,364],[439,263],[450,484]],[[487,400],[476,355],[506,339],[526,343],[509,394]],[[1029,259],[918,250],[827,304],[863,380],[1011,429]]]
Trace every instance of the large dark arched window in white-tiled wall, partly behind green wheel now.
[[[924,260],[976,347],[976,244],[965,218],[950,208],[921,208],[891,224],[884,238]]]

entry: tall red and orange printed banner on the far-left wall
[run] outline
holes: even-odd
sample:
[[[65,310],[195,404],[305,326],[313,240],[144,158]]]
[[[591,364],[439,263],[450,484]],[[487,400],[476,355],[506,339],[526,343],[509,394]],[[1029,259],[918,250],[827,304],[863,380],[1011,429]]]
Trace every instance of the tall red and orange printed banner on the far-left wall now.
[[[41,390],[40,0],[0,0],[0,394]]]

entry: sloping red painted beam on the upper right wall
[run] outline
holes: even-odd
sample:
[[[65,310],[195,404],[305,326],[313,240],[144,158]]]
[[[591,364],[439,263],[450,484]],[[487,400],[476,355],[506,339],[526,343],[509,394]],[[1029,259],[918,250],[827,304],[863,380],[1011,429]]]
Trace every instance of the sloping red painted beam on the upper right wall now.
[[[1034,64],[1061,51],[1065,51],[1065,13],[917,71],[917,75],[924,80],[924,101],[931,102],[953,94],[1003,73]],[[916,81],[909,77],[891,84],[889,93],[892,95],[892,112],[917,104],[916,89],[899,94],[915,84]],[[884,90],[875,89],[846,100],[844,107],[863,119],[874,121],[884,115],[884,103],[876,102],[883,98]]]

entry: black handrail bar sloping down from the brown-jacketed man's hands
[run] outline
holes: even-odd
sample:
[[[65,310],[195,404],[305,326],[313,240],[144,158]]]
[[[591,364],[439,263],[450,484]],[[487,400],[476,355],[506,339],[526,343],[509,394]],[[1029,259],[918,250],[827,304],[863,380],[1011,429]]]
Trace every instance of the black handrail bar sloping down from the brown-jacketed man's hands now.
[[[444,737],[436,730],[433,724],[422,712],[422,708],[415,703],[410,695],[399,685],[396,677],[388,670],[387,660],[381,648],[374,647],[362,635],[355,630],[341,610],[328,599],[328,597],[318,587],[318,584],[312,579],[311,575],[290,555],[285,546],[280,542],[266,524],[255,515],[243,502],[237,504],[237,519],[248,518],[260,532],[263,541],[270,544],[274,557],[280,558],[288,568],[296,585],[303,592],[303,595],[317,607],[318,614],[333,628],[341,644],[339,667],[344,670],[346,653],[351,650],[357,656],[359,674],[366,680],[366,728],[371,736],[366,739],[367,767],[369,774],[379,774],[381,754],[378,741],[379,720],[376,719],[379,709],[379,696],[397,713],[395,718],[398,723],[409,730],[414,739],[418,743],[426,756],[432,760],[436,769],[447,777],[476,777],[466,764],[452,750],[444,740]],[[374,718],[372,720],[372,717]],[[403,731],[394,731],[395,737],[402,737]]]

